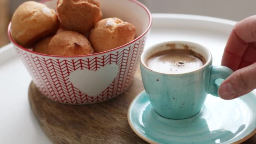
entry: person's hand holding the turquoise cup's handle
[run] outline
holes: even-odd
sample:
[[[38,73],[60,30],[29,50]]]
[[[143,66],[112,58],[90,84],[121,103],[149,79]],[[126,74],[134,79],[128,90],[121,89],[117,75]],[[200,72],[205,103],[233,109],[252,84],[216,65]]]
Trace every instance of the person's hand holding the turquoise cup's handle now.
[[[233,28],[221,65],[234,71],[219,87],[222,99],[235,99],[256,88],[256,16],[239,21]]]

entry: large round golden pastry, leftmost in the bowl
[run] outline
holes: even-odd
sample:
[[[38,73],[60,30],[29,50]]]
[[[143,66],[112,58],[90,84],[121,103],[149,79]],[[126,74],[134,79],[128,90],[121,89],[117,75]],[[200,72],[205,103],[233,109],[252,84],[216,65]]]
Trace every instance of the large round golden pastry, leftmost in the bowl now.
[[[33,45],[59,28],[55,11],[34,1],[21,4],[14,12],[11,23],[11,35],[22,46]]]

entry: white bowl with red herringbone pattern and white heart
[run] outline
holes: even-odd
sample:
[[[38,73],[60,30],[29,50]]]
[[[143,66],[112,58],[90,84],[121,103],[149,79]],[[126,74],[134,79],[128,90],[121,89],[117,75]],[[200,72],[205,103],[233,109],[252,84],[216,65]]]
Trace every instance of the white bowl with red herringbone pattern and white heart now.
[[[57,0],[43,0],[56,9]],[[33,52],[8,36],[41,93],[64,104],[93,104],[123,93],[131,85],[152,18],[136,0],[101,0],[104,17],[118,17],[136,27],[136,39],[110,51],[86,56],[51,56]]]

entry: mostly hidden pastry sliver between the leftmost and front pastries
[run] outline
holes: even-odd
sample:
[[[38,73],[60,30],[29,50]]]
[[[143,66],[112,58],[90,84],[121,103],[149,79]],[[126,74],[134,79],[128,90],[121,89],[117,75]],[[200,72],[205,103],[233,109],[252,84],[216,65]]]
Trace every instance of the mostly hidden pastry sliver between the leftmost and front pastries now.
[[[35,51],[37,53],[48,54],[49,43],[52,38],[53,38],[53,36],[49,36],[49,37],[46,37],[45,39],[39,41],[33,48],[33,51]]]

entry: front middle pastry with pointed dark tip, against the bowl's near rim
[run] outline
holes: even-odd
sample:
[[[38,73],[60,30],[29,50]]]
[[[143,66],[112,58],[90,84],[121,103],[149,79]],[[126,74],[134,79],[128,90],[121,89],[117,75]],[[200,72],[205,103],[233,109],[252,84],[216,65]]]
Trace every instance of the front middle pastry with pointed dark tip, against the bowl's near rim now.
[[[80,56],[94,52],[88,39],[73,31],[62,31],[53,36],[48,54],[54,56]]]

